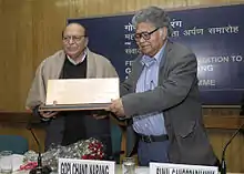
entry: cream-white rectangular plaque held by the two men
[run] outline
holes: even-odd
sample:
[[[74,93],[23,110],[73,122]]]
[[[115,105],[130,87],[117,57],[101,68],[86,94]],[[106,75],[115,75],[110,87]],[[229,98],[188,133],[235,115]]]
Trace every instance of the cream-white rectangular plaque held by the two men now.
[[[120,98],[119,78],[49,80],[40,111],[103,110]]]

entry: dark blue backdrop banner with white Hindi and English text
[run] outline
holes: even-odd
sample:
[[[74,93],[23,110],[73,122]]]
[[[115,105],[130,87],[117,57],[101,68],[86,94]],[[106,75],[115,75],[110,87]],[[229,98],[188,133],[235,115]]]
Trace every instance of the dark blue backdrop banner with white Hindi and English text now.
[[[171,39],[197,57],[199,86],[205,105],[238,105],[244,92],[244,4],[169,11]],[[111,60],[123,81],[139,53],[133,14],[69,19],[84,25],[89,48]]]

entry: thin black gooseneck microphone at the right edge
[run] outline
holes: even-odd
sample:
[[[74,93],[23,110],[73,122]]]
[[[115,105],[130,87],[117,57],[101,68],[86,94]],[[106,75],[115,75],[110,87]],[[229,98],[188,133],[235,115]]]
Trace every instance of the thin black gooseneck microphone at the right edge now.
[[[228,147],[228,145],[231,144],[231,142],[233,141],[233,139],[238,134],[238,132],[242,131],[244,123],[241,124],[241,126],[234,132],[234,134],[231,136],[231,139],[228,140],[228,142],[225,144],[224,150],[222,152],[222,158],[221,158],[221,174],[226,174],[226,162],[225,162],[225,152]]]

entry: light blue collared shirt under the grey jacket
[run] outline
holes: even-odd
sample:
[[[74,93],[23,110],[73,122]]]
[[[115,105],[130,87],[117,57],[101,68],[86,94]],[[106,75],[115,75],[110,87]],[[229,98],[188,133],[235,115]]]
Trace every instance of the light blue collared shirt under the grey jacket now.
[[[141,63],[143,64],[143,71],[136,83],[136,93],[153,90],[157,86],[160,62],[163,57],[165,45],[166,43],[164,43],[154,58],[150,58],[148,55],[142,57]],[[166,134],[163,113],[160,111],[134,116],[133,129],[135,132],[144,135]]]

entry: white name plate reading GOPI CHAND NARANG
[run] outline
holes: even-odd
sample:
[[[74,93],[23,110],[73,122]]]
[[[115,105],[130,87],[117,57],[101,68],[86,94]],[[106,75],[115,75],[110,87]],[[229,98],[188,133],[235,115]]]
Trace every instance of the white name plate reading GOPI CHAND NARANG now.
[[[59,174],[114,174],[115,162],[59,158]]]

